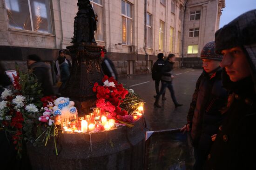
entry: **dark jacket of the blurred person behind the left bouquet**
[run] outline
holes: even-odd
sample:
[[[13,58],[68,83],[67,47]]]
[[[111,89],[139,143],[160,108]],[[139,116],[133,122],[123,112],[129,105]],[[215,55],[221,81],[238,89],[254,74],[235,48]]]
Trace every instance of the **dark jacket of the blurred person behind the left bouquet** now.
[[[33,74],[41,84],[42,93],[45,96],[54,95],[53,85],[51,83],[51,67],[42,62],[35,62],[31,65]]]

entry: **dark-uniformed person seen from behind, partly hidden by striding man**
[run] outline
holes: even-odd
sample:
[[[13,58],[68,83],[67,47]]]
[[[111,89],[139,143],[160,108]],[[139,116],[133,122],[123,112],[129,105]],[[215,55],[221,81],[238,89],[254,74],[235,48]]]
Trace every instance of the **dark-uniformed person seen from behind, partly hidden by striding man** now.
[[[155,81],[155,92],[156,95],[159,93],[159,84],[162,77],[162,67],[164,65],[163,60],[163,53],[157,54],[157,60],[155,61],[153,68],[152,68],[152,79]],[[155,98],[156,96],[154,96]],[[165,91],[162,94],[162,100],[166,100],[165,98]]]

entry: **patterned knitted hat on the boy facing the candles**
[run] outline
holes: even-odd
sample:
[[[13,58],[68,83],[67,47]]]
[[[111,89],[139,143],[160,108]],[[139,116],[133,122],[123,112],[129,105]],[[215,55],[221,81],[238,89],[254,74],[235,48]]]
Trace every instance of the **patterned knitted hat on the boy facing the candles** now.
[[[212,59],[221,61],[223,59],[223,56],[221,54],[216,54],[215,42],[211,41],[202,48],[201,59]]]

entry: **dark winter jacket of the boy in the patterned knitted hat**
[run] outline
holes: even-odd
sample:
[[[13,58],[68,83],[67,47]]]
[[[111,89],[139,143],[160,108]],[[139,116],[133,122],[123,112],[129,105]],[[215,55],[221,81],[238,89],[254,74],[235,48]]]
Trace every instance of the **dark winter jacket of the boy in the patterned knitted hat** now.
[[[204,145],[204,151],[207,153],[211,145],[211,136],[217,133],[223,119],[220,110],[227,101],[227,91],[222,87],[221,73],[220,67],[211,77],[207,72],[202,72],[196,82],[187,116],[193,145]]]

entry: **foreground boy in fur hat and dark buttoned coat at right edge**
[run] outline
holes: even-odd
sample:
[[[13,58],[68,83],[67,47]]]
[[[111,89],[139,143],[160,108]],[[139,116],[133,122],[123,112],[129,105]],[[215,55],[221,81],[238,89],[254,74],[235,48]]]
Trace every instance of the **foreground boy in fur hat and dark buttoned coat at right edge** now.
[[[256,10],[218,30],[215,42],[230,95],[205,169],[256,170]]]

